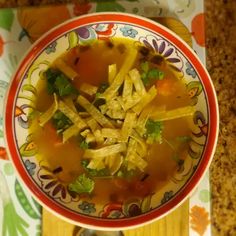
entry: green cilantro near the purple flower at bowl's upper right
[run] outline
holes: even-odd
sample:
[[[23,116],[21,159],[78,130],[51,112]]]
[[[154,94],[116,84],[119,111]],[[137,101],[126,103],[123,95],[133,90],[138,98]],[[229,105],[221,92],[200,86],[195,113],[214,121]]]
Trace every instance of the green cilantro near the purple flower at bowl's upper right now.
[[[145,86],[149,86],[155,80],[162,80],[164,73],[157,68],[150,68],[147,61],[141,63],[141,79]]]

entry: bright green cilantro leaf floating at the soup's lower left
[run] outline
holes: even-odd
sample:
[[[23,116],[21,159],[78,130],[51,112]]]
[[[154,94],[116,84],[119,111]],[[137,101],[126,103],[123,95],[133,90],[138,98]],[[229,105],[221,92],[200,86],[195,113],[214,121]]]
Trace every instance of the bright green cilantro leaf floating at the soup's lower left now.
[[[79,175],[76,180],[68,185],[68,189],[72,192],[91,193],[94,189],[94,181],[85,174]]]

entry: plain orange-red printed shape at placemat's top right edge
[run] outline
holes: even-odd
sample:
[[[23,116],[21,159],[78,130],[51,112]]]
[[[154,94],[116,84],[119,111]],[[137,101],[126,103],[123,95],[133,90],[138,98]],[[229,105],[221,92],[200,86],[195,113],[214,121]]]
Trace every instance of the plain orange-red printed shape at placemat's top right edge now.
[[[196,15],[192,20],[192,35],[198,45],[205,47],[205,20],[204,13]]]

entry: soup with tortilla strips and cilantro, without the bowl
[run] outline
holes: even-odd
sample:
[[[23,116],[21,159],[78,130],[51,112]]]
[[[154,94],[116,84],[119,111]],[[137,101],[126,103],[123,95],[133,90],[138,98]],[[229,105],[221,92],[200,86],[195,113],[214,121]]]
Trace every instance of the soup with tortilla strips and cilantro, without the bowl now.
[[[69,192],[145,196],[183,165],[194,108],[161,55],[131,40],[97,40],[69,50],[43,77],[30,130],[37,157]]]

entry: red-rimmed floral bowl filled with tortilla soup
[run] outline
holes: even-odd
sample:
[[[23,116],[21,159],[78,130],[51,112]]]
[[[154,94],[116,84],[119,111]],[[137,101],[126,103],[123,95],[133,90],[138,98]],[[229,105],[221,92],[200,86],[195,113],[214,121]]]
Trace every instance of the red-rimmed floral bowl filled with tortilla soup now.
[[[213,157],[218,116],[211,79],[185,42],[146,18],[99,13],[30,48],[10,84],[5,138],[44,207],[117,230],[190,196]]]

